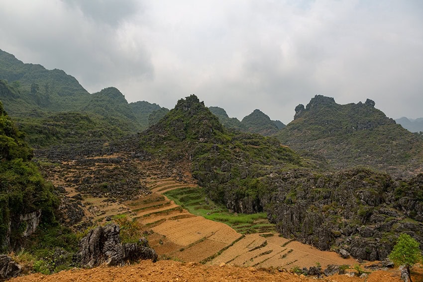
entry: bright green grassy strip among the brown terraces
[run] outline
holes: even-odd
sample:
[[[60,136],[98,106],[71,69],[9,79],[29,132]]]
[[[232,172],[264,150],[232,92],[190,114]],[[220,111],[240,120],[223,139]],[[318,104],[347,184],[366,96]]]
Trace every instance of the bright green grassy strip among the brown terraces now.
[[[241,234],[260,233],[263,229],[268,233],[275,229],[274,224],[266,223],[266,213],[228,212],[227,208],[208,198],[203,188],[179,188],[164,194],[190,213],[225,223]]]

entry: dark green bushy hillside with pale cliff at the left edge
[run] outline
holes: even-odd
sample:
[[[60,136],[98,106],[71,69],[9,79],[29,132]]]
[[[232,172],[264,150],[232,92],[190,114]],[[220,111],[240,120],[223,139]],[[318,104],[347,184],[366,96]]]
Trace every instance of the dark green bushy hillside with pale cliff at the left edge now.
[[[13,249],[40,222],[54,221],[58,199],[32,156],[0,101],[0,251]]]

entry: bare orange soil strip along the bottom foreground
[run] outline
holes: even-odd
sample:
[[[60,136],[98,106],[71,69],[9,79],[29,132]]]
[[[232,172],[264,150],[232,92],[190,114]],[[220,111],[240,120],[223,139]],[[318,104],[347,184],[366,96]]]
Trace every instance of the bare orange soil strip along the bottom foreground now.
[[[420,279],[422,277],[419,277]],[[75,269],[62,271],[57,274],[45,276],[41,274],[32,274],[24,277],[18,277],[10,280],[11,282],[77,282],[77,281],[136,281],[136,282],[196,282],[196,281],[316,281],[314,278],[299,277],[287,272],[277,270],[264,270],[256,268],[240,268],[226,265],[205,266],[198,263],[180,263],[174,261],[142,261],[136,265],[125,267],[98,267],[93,269]],[[400,282],[398,270],[392,272],[375,271],[366,279],[358,277],[348,277],[345,275],[334,275],[317,281],[327,282]],[[414,281],[421,281],[419,279]]]

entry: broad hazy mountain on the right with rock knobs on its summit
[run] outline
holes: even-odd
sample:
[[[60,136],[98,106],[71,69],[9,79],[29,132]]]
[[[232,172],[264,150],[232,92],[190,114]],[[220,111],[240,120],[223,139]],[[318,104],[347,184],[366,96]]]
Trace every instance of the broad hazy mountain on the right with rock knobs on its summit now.
[[[297,151],[323,156],[334,168],[369,166],[396,175],[422,172],[423,142],[367,99],[340,105],[316,95],[295,108],[275,137]]]

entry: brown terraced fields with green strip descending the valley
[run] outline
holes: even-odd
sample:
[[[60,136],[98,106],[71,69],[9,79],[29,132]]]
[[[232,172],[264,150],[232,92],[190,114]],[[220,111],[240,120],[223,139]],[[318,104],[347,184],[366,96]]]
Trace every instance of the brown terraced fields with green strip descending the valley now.
[[[121,162],[108,163],[107,158],[120,158]],[[110,193],[80,194],[79,185],[84,179],[128,167],[138,170],[142,187],[131,199],[116,200]],[[233,214],[215,204],[196,185],[189,167],[187,163],[175,167],[113,155],[99,157],[99,161],[91,161],[90,165],[63,163],[52,168],[48,178],[56,186],[64,187],[66,197],[81,200],[84,220],[91,224],[119,214],[140,223],[141,232],[148,236],[150,245],[162,259],[286,269],[317,263],[323,268],[328,264],[356,264],[355,260],[342,259],[336,253],[279,237],[265,213]]]

